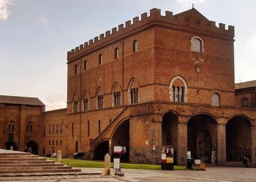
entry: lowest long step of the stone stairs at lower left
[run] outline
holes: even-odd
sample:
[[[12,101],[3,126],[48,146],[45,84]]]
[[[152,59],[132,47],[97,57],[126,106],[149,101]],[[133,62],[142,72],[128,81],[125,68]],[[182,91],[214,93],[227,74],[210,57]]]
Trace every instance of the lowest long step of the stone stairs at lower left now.
[[[0,170],[0,173],[67,173],[67,172],[81,172],[81,169],[34,169],[34,170]]]

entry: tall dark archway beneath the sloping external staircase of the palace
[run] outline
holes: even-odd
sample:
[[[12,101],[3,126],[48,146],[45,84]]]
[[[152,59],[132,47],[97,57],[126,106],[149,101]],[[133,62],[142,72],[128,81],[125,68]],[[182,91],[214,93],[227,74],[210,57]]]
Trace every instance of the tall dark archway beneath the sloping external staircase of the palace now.
[[[112,154],[114,146],[124,146],[126,148],[126,153],[121,154],[122,162],[129,162],[129,119],[121,122],[121,124],[116,127],[112,138],[111,138]],[[114,154],[111,157],[116,157]]]

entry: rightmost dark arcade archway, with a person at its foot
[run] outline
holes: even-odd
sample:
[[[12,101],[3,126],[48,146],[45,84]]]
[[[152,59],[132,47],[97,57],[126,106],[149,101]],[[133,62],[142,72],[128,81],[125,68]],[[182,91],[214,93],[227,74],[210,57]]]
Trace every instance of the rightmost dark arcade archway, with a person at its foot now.
[[[251,159],[252,127],[249,119],[235,116],[226,124],[227,162],[241,162],[243,157]]]

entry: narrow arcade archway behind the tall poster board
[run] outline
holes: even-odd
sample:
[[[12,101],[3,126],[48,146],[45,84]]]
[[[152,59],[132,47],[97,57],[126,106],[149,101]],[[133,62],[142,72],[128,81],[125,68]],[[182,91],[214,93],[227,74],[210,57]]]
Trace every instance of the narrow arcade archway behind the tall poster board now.
[[[173,163],[176,165],[178,148],[178,116],[167,112],[162,116],[162,146],[173,146]]]

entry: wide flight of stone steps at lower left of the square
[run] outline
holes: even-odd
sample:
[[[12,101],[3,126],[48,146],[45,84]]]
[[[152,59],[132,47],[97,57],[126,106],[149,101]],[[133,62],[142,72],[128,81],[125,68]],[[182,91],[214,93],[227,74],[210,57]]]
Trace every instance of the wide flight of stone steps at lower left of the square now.
[[[81,169],[54,162],[38,155],[0,149],[0,176],[18,174],[42,175],[46,173],[74,175],[80,172]]]

